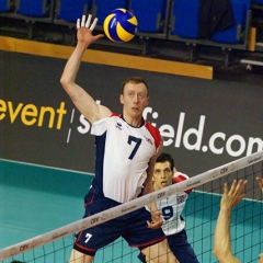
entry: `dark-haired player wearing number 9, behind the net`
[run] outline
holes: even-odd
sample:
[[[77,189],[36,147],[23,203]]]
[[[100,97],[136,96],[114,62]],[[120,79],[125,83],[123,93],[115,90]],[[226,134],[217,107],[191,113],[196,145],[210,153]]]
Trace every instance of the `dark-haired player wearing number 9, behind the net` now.
[[[187,179],[186,174],[176,170],[171,155],[163,152],[157,158],[152,176],[153,191]],[[180,263],[198,263],[197,256],[187,241],[185,221],[181,215],[191,192],[192,190],[187,190],[169,198],[160,199],[157,203],[158,209],[162,213],[162,230],[167,235],[171,251]],[[139,255],[139,259],[146,262],[146,258],[142,254]]]

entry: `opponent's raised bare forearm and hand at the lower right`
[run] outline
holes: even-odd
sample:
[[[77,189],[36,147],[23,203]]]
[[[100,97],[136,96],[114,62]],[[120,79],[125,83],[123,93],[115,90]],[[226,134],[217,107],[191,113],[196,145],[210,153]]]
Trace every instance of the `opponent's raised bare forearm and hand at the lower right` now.
[[[217,218],[214,249],[213,253],[219,263],[239,263],[240,261],[232,254],[231,251],[231,237],[230,237],[230,222],[232,208],[240,203],[244,197],[243,191],[247,181],[235,180],[228,191],[228,186],[224,185],[224,195],[220,202],[220,210]]]

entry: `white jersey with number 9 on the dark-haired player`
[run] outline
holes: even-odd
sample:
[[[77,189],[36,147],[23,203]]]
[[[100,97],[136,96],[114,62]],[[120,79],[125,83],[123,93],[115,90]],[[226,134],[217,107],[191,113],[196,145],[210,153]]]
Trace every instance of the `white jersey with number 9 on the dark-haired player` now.
[[[187,179],[186,174],[181,172],[174,173],[173,178],[182,176]],[[157,202],[158,209],[162,213],[163,225],[162,230],[167,236],[181,232],[185,227],[185,221],[180,218],[184,206],[186,204],[188,194],[181,192],[176,195],[172,195],[168,198],[163,198]]]

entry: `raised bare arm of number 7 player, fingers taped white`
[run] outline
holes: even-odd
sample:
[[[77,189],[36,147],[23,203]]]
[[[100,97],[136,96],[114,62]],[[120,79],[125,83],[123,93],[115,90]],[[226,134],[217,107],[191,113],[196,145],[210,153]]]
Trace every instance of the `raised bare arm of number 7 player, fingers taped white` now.
[[[103,37],[102,34],[95,36],[92,35],[96,21],[98,20],[95,19],[91,24],[91,15],[89,15],[87,21],[85,15],[82,16],[81,22],[80,20],[77,21],[77,46],[68,59],[60,78],[60,83],[71,98],[73,104],[91,124],[102,117],[111,115],[111,111],[107,107],[98,105],[94,99],[76,83],[76,77],[84,52],[92,43]],[[87,75],[89,75],[89,72],[87,72]]]

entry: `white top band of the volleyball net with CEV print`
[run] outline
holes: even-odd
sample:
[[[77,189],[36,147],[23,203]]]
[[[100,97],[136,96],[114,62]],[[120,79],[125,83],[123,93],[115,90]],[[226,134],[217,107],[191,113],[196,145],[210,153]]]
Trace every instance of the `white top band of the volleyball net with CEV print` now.
[[[213,181],[215,179],[222,178],[229,173],[232,173],[235,171],[238,171],[242,168],[252,165],[254,163],[258,163],[263,160],[263,151],[255,152],[251,156],[240,158],[236,161],[226,163],[224,165],[220,165],[218,168],[208,170],[204,173],[201,173],[198,175],[195,175],[193,178],[190,178],[188,180],[185,180],[183,182],[173,184],[171,186],[164,187],[162,190],[156,191],[153,193],[144,195],[139,198],[136,198],[134,201],[124,203],[122,205],[118,205],[114,208],[98,213],[93,216],[80,219],[78,221],[75,221],[72,224],[66,225],[64,227],[54,229],[49,232],[36,236],[32,239],[27,239],[23,242],[10,245],[8,248],[4,248],[0,250],[0,260],[5,260],[9,258],[12,258],[14,255],[24,253],[28,250],[33,250],[37,247],[41,247],[43,244],[56,241],[58,239],[65,238],[69,235],[79,232],[83,229],[94,227],[99,224],[108,221],[115,217],[128,214],[133,210],[136,210],[140,207],[144,207],[150,203],[157,202],[162,198],[167,198],[171,195],[175,195],[182,191],[194,188],[198,185],[205,184],[209,181]]]

